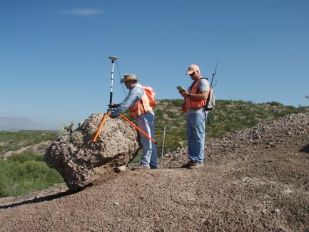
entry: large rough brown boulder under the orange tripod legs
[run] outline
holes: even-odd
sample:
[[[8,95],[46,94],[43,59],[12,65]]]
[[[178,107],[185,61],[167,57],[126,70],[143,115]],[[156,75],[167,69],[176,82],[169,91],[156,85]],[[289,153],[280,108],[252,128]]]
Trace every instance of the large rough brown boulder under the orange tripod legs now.
[[[71,191],[101,180],[138,153],[136,129],[120,118],[107,117],[96,143],[92,143],[102,118],[103,114],[89,116],[73,133],[62,134],[46,150],[44,161],[59,171]]]

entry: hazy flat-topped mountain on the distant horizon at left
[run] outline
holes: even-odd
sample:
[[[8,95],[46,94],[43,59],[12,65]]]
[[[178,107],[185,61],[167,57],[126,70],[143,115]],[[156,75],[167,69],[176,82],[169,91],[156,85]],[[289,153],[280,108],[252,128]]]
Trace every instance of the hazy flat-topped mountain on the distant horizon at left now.
[[[42,126],[30,118],[0,117],[0,131],[42,130],[49,131],[53,128]]]

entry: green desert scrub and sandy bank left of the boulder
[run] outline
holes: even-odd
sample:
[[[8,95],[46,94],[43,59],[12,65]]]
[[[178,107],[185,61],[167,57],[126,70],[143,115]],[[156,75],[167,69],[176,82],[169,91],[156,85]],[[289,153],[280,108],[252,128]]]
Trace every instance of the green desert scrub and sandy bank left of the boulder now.
[[[0,132],[0,197],[20,196],[63,182],[43,161],[48,142],[55,139],[56,131]]]

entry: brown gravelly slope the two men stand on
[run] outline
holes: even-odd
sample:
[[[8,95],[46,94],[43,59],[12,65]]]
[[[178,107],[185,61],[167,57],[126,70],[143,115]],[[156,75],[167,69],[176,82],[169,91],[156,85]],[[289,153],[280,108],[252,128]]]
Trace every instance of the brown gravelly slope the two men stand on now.
[[[76,193],[58,186],[0,198],[2,231],[309,231],[309,114],[206,143],[199,170],[111,173]],[[0,231],[1,231],[0,230]]]

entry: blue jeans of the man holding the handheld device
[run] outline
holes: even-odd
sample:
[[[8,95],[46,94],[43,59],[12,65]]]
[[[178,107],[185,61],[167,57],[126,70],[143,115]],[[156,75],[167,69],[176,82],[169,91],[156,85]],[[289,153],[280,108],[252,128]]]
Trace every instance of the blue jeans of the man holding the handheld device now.
[[[187,138],[190,162],[204,162],[206,118],[207,114],[187,114]]]

